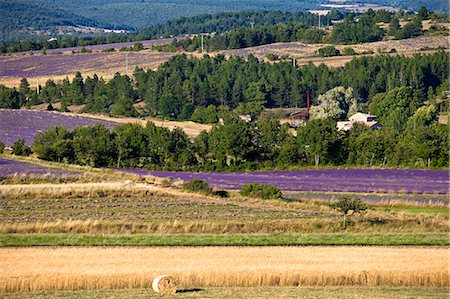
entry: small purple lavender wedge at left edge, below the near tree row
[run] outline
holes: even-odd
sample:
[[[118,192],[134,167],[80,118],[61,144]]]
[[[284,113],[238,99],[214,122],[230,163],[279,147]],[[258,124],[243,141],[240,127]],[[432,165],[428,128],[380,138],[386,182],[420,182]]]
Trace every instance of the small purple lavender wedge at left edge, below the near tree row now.
[[[80,172],[0,158],[0,179],[13,176],[68,177]]]

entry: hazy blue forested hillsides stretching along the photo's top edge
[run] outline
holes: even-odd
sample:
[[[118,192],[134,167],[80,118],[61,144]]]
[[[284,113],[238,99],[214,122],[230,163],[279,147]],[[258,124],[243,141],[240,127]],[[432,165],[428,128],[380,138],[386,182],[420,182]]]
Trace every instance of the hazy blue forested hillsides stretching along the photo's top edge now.
[[[100,32],[96,29],[98,27],[122,30],[147,28],[141,33],[153,33],[152,31],[156,29],[170,26],[169,23],[164,24],[169,20],[175,20],[175,24],[180,25],[179,32],[190,32],[192,30],[183,27],[184,17],[244,10],[299,12],[330,8],[323,7],[324,4],[335,5],[336,3],[328,0],[0,0],[0,13],[5,16],[0,24],[0,42],[9,43],[36,38],[36,36],[47,38],[63,34],[91,35]],[[383,7],[402,7],[414,11],[417,11],[422,5],[426,5],[431,11],[448,11],[448,3],[444,0],[348,0],[339,2],[336,7],[340,8],[341,5],[347,4],[358,4],[359,6],[376,4]],[[159,27],[148,28],[156,24]],[[230,27],[229,24],[222,23],[208,26]],[[208,26],[206,29],[209,28]]]

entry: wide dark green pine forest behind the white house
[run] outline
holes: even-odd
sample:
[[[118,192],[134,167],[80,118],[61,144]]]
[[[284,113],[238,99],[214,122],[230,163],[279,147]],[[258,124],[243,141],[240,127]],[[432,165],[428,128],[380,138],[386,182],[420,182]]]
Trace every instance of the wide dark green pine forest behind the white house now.
[[[133,104],[143,100],[149,115],[186,120],[195,109],[209,105],[229,109],[243,103],[270,108],[305,107],[307,91],[317,104],[320,94],[344,86],[353,89],[360,109],[367,110],[376,94],[396,87],[411,86],[421,99],[435,97],[436,91],[447,87],[448,63],[444,51],[411,58],[359,57],[339,68],[313,64],[296,68],[290,62],[264,63],[253,56],[225,59],[222,55],[205,55],[198,59],[183,54],[155,71],[136,68],[133,79],[116,74],[105,82],[78,73],[72,81],[48,80],[39,95],[23,79],[17,91],[0,89],[0,107],[61,101],[63,111],[72,104],[86,104],[86,112],[135,116]]]

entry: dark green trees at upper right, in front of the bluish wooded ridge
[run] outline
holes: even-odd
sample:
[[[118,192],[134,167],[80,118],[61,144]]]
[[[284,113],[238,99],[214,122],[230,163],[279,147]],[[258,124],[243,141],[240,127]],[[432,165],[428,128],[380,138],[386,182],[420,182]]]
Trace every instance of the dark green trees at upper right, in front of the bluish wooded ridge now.
[[[317,25],[314,22],[309,27],[305,22],[285,22],[279,24],[263,24],[256,27],[241,27],[223,34],[195,36],[194,38],[175,39],[167,45],[154,46],[159,51],[197,51],[203,48],[206,51],[217,51],[225,49],[241,49],[276,42],[301,41],[305,43],[333,43],[333,44],[356,44],[380,41],[386,35],[396,39],[411,38],[422,35],[422,20],[433,17],[425,7],[423,13],[417,16],[409,15],[411,19],[403,28],[400,28],[399,19],[405,17],[403,14],[394,14],[385,10],[374,11],[369,9],[363,14],[347,13],[344,15],[339,11],[331,11],[322,18],[322,25],[331,24],[332,20],[344,20],[333,26],[330,34],[324,30],[310,27]],[[317,20],[316,20],[317,21]],[[389,24],[386,31],[380,28],[379,23]]]

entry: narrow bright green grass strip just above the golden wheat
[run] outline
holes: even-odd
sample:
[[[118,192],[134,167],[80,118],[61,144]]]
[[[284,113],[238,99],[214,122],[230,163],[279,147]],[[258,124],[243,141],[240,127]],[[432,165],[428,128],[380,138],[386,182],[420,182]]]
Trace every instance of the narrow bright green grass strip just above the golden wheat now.
[[[20,246],[448,246],[447,234],[0,234]]]

